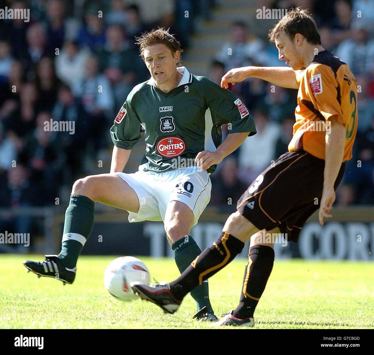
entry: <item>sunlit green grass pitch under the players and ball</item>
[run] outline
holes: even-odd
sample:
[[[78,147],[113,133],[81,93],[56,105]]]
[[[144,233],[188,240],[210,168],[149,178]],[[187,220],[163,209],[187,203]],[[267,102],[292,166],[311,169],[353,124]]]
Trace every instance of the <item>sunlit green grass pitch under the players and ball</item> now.
[[[73,285],[27,274],[25,258],[1,255],[0,328],[209,328],[188,295],[174,315],[149,302],[120,302],[104,288],[114,257],[81,257]],[[172,259],[141,257],[157,281],[178,276]],[[236,307],[245,260],[209,280],[217,315]],[[255,313],[256,328],[374,328],[373,263],[276,261]]]

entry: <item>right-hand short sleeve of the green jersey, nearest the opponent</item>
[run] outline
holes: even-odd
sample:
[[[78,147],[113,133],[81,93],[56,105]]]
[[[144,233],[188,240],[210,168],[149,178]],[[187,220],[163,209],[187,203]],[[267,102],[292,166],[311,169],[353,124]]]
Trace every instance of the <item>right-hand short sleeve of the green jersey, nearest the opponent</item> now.
[[[221,126],[232,123],[229,133],[256,133],[254,120],[245,104],[231,91],[221,88],[217,83],[206,79],[204,97],[211,111],[213,124]]]

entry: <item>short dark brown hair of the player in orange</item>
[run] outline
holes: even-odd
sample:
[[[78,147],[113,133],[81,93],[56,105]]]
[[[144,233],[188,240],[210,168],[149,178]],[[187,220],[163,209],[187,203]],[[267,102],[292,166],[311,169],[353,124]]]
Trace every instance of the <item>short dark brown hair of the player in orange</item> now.
[[[270,42],[275,42],[276,37],[286,33],[293,41],[295,34],[300,33],[312,45],[321,45],[316,22],[307,10],[296,7],[288,11],[279,22],[270,30]]]

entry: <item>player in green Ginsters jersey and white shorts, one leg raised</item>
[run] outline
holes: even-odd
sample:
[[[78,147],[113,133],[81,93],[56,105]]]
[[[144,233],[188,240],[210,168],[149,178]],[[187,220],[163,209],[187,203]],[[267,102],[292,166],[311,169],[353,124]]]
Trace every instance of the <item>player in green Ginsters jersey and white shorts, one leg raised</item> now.
[[[62,248],[43,262],[25,261],[38,276],[71,284],[77,259],[92,231],[94,202],[129,212],[130,222],[163,221],[180,272],[201,253],[190,235],[208,205],[209,175],[224,157],[256,132],[245,105],[232,92],[180,67],[181,48],[160,28],[137,38],[151,78],[132,89],[114,119],[109,174],[77,180],[65,214]],[[222,142],[221,125],[229,124]],[[123,173],[131,149],[145,134],[145,156],[139,170]],[[215,321],[208,283],[191,291],[197,319]]]

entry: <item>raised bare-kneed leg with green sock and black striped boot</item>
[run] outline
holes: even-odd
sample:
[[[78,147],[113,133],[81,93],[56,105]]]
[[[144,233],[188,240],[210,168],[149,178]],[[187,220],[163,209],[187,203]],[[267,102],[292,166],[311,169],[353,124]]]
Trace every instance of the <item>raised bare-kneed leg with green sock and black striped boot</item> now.
[[[94,201],[135,213],[139,211],[137,194],[117,174],[91,175],[79,179],[73,185],[65,212],[60,253],[46,255],[43,262],[27,260],[24,266],[38,276],[53,277],[64,284],[73,283],[77,259],[92,232]]]

